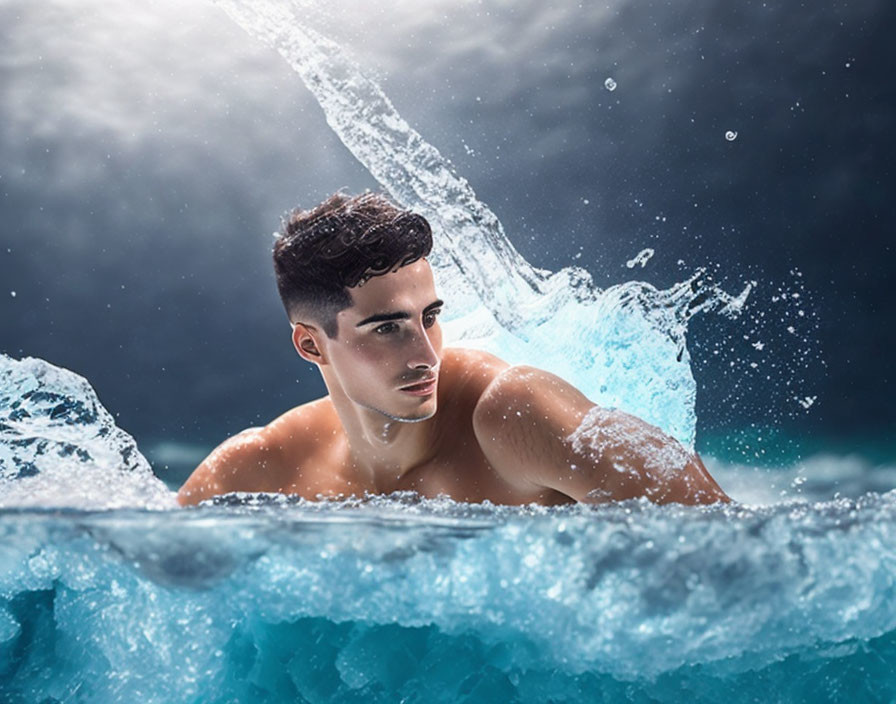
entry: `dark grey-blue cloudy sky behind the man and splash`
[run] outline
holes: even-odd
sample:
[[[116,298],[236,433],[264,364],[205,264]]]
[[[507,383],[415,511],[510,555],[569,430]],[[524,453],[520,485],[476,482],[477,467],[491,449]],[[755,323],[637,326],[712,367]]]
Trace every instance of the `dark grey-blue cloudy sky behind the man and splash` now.
[[[530,262],[600,286],[757,282],[740,321],[692,325],[702,433],[896,435],[890,4],[421,5],[306,20]],[[291,349],[271,233],[376,185],[212,4],[0,6],[0,350],[86,376],[151,456],[324,392]],[[767,341],[759,371],[744,334]]]

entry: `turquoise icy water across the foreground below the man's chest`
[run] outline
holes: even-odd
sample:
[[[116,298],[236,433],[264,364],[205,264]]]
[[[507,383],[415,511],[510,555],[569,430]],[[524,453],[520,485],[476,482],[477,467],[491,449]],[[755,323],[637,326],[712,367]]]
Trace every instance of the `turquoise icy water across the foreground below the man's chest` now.
[[[5,510],[4,700],[896,694],[893,494],[728,509],[270,501]]]

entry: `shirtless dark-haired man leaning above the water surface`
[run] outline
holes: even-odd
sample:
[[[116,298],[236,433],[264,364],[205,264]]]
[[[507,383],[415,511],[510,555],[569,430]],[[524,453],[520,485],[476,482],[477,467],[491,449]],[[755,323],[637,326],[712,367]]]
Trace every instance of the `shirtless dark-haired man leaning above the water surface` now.
[[[329,394],[226,440],[181,487],[181,504],[235,491],[730,500],[658,428],[595,406],[553,374],[443,350],[431,248],[429,223],[377,194],[292,213],[274,246],[277,286],[293,345]]]

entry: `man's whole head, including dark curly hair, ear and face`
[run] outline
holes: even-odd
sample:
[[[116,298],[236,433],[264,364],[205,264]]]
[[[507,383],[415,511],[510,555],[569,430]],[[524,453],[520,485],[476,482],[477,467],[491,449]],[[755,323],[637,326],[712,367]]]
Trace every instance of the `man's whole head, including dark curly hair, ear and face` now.
[[[274,267],[293,344],[334,401],[415,421],[436,410],[442,307],[426,220],[384,197],[336,194],[284,224]]]

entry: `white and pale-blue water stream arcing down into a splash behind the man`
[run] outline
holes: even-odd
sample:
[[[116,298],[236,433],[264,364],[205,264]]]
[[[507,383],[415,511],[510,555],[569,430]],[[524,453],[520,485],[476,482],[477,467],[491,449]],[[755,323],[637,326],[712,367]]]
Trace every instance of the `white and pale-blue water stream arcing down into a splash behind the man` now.
[[[666,291],[642,282],[601,291],[583,269],[532,267],[467,181],[297,10],[269,0],[217,4],[286,59],[352,154],[398,202],[433,224],[436,282],[452,296],[449,342],[547,369],[594,402],[634,413],[693,447],[687,320],[701,310],[739,312],[749,285],[734,298],[697,271]]]

